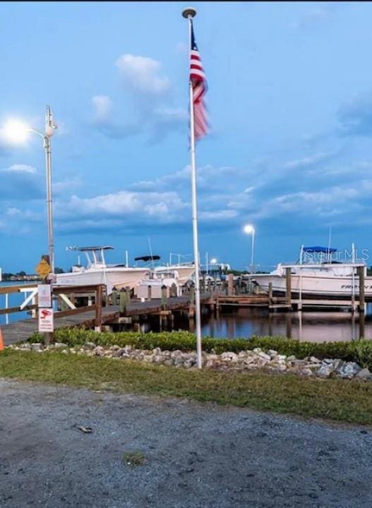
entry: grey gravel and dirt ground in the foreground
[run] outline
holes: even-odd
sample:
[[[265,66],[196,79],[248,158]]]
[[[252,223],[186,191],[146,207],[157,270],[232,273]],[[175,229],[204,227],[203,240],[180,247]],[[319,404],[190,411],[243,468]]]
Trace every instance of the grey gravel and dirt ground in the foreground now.
[[[370,428],[0,380],[1,508],[371,508],[371,458]]]

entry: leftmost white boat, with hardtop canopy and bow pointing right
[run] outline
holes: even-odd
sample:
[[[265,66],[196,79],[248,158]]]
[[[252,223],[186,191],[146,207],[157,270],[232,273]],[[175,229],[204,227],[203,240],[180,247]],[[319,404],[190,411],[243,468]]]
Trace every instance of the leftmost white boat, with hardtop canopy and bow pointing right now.
[[[88,286],[90,284],[104,284],[107,286],[107,294],[113,289],[122,289],[129,286],[131,289],[137,286],[143,279],[148,269],[128,267],[127,265],[107,265],[104,259],[104,251],[112,250],[113,247],[73,247],[68,250],[77,250],[84,253],[87,258],[86,267],[74,265],[72,272],[56,274],[56,284],[59,286]]]

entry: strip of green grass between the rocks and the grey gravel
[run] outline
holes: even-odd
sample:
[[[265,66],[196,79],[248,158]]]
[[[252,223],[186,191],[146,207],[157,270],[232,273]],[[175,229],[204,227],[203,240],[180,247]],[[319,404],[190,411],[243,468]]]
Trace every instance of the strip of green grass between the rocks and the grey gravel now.
[[[295,375],[186,370],[135,361],[6,349],[0,377],[232,404],[307,418],[372,424],[372,383]]]

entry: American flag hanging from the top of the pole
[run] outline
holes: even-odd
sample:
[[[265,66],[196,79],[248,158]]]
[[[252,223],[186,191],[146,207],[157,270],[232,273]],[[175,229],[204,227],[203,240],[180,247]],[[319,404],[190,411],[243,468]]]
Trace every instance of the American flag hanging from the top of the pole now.
[[[208,133],[207,111],[204,104],[204,95],[208,90],[207,80],[200,60],[198,46],[193,33],[193,22],[191,22],[191,51],[190,51],[190,81],[193,87],[193,114],[194,114],[194,135],[198,140]]]

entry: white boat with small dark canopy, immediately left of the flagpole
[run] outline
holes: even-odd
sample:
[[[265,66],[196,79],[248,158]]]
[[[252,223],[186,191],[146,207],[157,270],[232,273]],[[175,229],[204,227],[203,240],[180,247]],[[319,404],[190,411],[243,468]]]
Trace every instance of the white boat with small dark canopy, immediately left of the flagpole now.
[[[135,258],[135,261],[142,260],[145,262],[160,260],[160,256],[151,255],[143,256],[142,258]],[[161,298],[162,286],[168,288],[167,295],[172,286],[176,288],[176,296],[180,296],[182,293],[182,286],[191,279],[195,267],[190,263],[180,263],[179,265],[167,265],[167,266],[155,266],[148,267],[148,273],[144,277],[138,287],[136,288],[136,294],[138,298],[148,297],[148,286],[151,286],[152,298]]]

